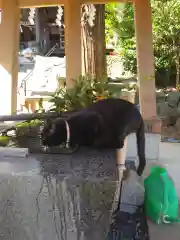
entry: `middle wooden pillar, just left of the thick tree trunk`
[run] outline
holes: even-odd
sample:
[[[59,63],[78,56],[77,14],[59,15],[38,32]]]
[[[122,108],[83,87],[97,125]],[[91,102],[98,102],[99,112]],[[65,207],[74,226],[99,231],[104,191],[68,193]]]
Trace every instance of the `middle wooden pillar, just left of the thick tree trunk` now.
[[[73,86],[73,79],[82,73],[81,4],[67,0],[64,5],[66,84]]]

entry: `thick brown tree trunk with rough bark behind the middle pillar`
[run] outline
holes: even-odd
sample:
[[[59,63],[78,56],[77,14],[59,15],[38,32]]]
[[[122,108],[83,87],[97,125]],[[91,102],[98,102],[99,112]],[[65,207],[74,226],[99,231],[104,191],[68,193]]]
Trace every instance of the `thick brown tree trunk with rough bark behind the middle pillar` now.
[[[90,5],[89,7],[90,11]],[[83,19],[82,24],[82,48],[83,48],[83,74],[89,74],[94,78],[106,76],[106,47],[105,47],[105,5],[96,4],[94,25],[90,26]]]

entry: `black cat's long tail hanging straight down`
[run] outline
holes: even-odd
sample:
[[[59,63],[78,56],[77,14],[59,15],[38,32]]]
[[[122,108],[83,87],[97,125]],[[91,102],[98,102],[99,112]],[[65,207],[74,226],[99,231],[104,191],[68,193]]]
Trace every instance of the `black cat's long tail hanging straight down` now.
[[[136,133],[137,138],[137,151],[139,157],[139,166],[137,169],[138,175],[142,175],[144,168],[146,166],[146,156],[145,156],[145,129],[143,119],[141,120],[140,127]]]

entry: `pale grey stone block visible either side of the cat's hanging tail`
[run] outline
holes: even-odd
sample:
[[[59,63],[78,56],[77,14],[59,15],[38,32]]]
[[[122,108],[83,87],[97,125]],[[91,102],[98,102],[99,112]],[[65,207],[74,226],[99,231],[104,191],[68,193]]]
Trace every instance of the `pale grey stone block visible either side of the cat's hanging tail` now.
[[[161,135],[155,133],[146,133],[146,159],[157,160],[159,157],[159,145]],[[137,159],[136,135],[130,134],[128,137],[127,158]]]

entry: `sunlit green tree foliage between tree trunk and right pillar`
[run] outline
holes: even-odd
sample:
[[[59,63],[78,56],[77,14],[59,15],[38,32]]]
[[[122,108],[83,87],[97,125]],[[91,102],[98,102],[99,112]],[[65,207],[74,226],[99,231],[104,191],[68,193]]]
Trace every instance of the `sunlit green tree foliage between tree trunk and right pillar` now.
[[[134,10],[131,3],[106,6],[106,41],[118,36],[116,51],[120,52],[125,71],[136,72]]]

